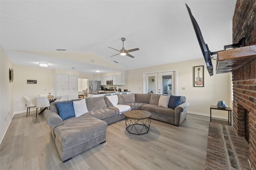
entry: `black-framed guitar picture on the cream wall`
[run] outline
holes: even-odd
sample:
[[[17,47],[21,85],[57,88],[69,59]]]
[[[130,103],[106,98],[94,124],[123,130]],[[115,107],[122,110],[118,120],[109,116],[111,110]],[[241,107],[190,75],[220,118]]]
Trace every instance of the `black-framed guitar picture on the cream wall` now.
[[[204,87],[204,66],[195,66],[194,67],[194,87]]]

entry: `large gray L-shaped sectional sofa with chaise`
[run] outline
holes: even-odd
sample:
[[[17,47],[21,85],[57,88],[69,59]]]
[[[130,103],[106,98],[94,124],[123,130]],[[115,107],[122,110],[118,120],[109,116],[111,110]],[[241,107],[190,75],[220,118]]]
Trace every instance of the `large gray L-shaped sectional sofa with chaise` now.
[[[160,95],[157,94],[118,95],[118,105],[129,105],[132,110],[149,111],[152,114],[151,119],[179,126],[186,119],[189,107],[186,98],[181,97],[181,104],[174,109],[158,106],[159,98]],[[74,101],[77,100],[81,99]],[[86,98],[86,105],[88,113],[64,121],[58,115],[56,102],[51,103],[50,110],[44,114],[60,158],[64,162],[88,148],[105,142],[107,125],[125,118],[106,96]]]

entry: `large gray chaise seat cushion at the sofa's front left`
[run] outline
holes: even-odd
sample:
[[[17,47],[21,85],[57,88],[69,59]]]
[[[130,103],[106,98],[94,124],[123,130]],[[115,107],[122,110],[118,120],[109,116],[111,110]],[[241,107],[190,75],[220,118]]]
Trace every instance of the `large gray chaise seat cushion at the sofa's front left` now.
[[[106,122],[84,114],[63,121],[62,126],[54,128],[54,133],[56,139],[66,147],[90,139],[106,130]]]

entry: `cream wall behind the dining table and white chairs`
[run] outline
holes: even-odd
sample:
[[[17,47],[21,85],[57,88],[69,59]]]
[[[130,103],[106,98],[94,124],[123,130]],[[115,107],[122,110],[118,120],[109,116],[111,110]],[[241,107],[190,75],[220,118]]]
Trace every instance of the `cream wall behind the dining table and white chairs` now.
[[[32,67],[18,64],[13,64],[13,69],[16,72],[15,81],[13,82],[14,113],[26,112],[24,96],[28,96],[35,104],[35,97],[40,94],[54,93],[52,69],[39,65],[38,67]],[[37,84],[27,84],[27,80],[37,80]]]

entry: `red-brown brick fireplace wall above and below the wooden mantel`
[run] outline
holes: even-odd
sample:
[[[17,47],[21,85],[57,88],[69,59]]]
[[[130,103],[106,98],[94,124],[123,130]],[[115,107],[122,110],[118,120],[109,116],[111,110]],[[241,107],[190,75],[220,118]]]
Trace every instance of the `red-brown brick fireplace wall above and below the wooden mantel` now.
[[[245,36],[245,46],[256,45],[256,0],[237,0],[233,17],[233,43]],[[256,60],[232,71],[233,126],[238,136],[249,132],[250,162],[256,170]],[[248,121],[245,114],[248,112]]]

